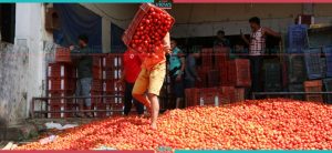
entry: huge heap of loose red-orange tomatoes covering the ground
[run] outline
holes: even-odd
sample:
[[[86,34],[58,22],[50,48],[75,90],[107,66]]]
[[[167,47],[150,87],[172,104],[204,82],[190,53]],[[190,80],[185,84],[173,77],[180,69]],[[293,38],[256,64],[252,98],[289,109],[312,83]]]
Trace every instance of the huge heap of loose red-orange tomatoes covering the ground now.
[[[284,99],[196,106],[160,115],[158,130],[136,116],[110,118],[70,129],[49,144],[18,150],[331,150],[332,108]]]

